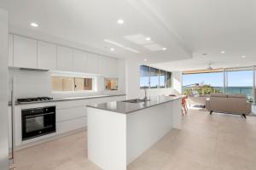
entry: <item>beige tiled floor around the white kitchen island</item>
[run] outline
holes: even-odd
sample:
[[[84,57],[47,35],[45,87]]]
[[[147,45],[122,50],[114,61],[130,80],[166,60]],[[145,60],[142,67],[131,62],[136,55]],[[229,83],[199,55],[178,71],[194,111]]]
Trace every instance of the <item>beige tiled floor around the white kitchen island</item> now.
[[[86,159],[86,132],[16,152],[18,170],[96,170]],[[173,129],[133,161],[129,170],[255,170],[256,117],[189,110]]]

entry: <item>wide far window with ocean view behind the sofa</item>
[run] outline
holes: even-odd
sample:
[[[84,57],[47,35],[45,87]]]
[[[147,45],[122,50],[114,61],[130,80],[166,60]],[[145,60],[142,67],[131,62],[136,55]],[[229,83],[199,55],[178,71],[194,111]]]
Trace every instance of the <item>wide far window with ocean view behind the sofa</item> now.
[[[183,73],[183,94],[246,94],[253,102],[253,67]],[[255,102],[255,101],[254,101]]]

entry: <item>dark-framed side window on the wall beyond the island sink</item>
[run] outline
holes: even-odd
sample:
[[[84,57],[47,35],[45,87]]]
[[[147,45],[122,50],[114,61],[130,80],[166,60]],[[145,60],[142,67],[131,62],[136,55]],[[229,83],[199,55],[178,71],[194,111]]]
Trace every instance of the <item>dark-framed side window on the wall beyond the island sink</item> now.
[[[172,72],[162,71],[147,65],[141,65],[140,87],[172,88]]]

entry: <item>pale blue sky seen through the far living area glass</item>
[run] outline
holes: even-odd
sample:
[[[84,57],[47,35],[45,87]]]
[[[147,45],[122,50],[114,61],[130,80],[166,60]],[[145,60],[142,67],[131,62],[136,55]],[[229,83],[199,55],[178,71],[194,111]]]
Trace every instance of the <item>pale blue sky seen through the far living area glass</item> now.
[[[201,73],[183,75],[183,86],[205,82],[213,87],[223,87],[224,73]],[[228,86],[230,87],[245,87],[253,86],[253,71],[229,71]]]

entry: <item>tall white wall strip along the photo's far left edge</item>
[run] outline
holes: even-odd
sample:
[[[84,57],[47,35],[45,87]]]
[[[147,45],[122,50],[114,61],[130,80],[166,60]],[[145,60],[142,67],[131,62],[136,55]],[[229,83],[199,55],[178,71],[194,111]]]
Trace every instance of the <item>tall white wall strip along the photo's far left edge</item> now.
[[[0,8],[0,169],[8,170],[8,12]]]

